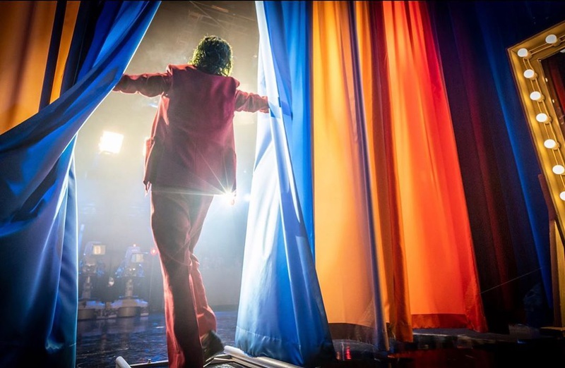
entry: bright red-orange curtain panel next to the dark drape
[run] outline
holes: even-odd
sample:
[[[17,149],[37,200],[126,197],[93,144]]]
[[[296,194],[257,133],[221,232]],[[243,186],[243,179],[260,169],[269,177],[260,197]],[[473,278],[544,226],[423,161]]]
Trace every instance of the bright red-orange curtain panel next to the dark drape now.
[[[414,328],[486,331],[453,125],[421,1],[383,1],[400,247]],[[390,276],[389,276],[390,277]]]

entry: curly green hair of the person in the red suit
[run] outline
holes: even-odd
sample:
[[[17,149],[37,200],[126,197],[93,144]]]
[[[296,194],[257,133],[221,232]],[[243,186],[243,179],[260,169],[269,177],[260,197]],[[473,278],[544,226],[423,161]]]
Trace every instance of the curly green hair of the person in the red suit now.
[[[225,39],[206,36],[194,49],[189,63],[204,73],[227,77],[232,73],[232,47]]]

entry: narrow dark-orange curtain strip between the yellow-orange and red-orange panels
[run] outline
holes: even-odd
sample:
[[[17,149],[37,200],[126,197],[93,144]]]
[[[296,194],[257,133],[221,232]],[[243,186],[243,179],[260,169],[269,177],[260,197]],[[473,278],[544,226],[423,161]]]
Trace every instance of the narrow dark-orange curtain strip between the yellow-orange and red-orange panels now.
[[[381,302],[391,334],[399,341],[412,341],[405,248],[400,246],[402,219],[398,211],[398,178],[391,145],[382,6],[377,1],[356,1],[355,5]]]

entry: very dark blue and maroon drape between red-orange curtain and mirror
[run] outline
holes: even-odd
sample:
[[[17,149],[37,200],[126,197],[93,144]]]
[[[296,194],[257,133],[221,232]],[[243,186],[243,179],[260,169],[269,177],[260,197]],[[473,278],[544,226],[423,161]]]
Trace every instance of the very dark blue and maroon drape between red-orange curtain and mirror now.
[[[507,49],[563,20],[559,1],[432,1],[490,331],[551,322],[549,219]]]

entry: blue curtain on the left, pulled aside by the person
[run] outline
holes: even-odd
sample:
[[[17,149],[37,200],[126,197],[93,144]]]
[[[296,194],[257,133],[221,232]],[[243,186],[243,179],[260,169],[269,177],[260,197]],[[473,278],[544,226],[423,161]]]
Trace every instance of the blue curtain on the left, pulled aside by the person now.
[[[61,97],[0,135],[0,367],[75,366],[76,135],[124,73],[160,2],[84,4]],[[93,27],[81,23],[87,18]]]

